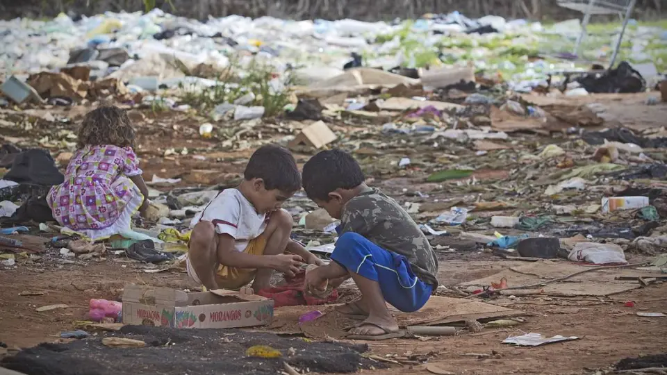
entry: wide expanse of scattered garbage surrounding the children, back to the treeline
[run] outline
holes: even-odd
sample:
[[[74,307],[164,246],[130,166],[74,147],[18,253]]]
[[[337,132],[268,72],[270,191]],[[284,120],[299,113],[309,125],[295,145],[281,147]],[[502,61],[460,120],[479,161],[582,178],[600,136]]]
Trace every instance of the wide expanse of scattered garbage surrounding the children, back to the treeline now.
[[[3,26],[8,267],[45,253],[74,263],[127,256],[146,272],[178,267],[190,219],[238,183],[247,151],[266,143],[298,158],[325,147],[353,153],[444,255],[607,264],[667,248],[664,128],[620,126],[575,97],[643,92],[649,74],[624,62],[550,88],[556,66],[534,53],[547,32],[540,24],[456,14],[201,23],[153,10]],[[652,29],[631,33],[640,31]],[[63,181],[77,122],[103,102],[129,110],[152,203],[131,233],[100,245],[53,225],[43,197]],[[302,193],[286,208],[297,240],[331,253],[334,220]]]

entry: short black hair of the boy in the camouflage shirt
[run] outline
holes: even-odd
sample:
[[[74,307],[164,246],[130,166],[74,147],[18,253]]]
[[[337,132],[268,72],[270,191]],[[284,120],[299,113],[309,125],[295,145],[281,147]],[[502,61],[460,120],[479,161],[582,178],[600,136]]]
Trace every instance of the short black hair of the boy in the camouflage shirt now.
[[[330,192],[356,188],[364,180],[359,163],[340,149],[321,151],[304,165],[303,185],[310,199],[328,202]]]

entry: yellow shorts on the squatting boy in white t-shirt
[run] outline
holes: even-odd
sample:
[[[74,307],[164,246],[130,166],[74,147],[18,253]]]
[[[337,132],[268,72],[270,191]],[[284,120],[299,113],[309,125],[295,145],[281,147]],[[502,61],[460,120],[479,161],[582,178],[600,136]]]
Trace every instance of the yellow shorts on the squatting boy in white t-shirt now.
[[[248,246],[243,251],[244,253],[261,256],[264,255],[264,249],[266,248],[266,238],[264,235],[260,235],[258,238],[254,238],[248,242]],[[188,269],[188,274],[195,281],[195,283],[201,284],[199,276],[195,272],[195,269],[190,265],[190,259],[186,263]],[[228,267],[226,265],[218,265],[217,272],[215,272],[217,286],[222,289],[227,290],[239,290],[240,288],[252,283],[257,274],[257,269],[252,268],[235,268]],[[203,288],[206,290],[206,288]]]

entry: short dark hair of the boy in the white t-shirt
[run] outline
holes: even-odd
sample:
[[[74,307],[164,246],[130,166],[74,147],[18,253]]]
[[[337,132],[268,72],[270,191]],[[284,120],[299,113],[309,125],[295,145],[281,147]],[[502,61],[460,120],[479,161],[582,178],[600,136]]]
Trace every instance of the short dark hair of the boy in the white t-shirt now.
[[[247,181],[263,179],[266,190],[296,192],[301,189],[301,176],[294,156],[276,144],[262,146],[250,156],[243,178]]]

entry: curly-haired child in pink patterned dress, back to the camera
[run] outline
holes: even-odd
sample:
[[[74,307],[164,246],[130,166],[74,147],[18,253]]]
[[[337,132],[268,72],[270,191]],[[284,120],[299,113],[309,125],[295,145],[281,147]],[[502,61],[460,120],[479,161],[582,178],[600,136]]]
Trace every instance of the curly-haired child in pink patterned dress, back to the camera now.
[[[85,115],[65,181],[47,195],[53,217],[66,231],[106,240],[130,231],[132,216],[145,211],[148,188],[134,140],[124,110],[101,107]]]

